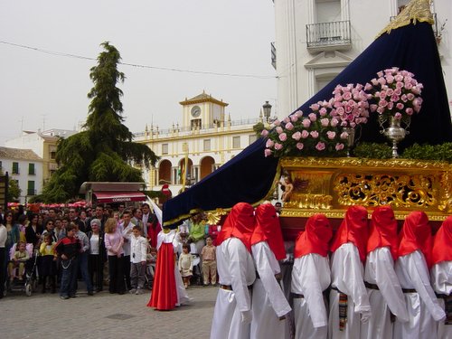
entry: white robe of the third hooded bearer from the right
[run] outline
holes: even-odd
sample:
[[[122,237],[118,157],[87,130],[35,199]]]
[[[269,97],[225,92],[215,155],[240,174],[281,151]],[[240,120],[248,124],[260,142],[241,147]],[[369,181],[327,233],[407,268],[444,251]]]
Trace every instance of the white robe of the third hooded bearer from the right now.
[[[367,254],[364,281],[379,289],[367,288],[372,316],[361,326],[362,339],[391,339],[393,323],[391,313],[400,321],[408,321],[407,305],[394,270],[394,260],[388,247]]]

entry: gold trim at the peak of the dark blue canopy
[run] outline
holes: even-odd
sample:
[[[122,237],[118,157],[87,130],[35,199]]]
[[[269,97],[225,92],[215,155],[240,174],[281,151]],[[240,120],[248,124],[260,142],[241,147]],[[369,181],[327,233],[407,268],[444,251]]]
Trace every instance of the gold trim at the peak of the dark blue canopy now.
[[[430,11],[430,2],[431,0],[412,0],[390,24],[377,34],[375,39],[384,33],[389,34],[392,30],[408,26],[409,24],[416,24],[417,22],[434,24],[433,14]]]

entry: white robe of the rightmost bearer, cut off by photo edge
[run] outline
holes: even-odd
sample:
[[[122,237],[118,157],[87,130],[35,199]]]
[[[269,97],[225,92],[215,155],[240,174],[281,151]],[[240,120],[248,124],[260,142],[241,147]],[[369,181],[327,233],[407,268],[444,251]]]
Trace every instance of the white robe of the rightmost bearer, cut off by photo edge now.
[[[452,293],[452,261],[441,261],[433,265],[430,269],[430,279],[435,292],[450,296]],[[438,303],[444,309],[444,299],[438,298]],[[452,325],[445,325],[444,321],[439,321],[438,339],[452,339]]]

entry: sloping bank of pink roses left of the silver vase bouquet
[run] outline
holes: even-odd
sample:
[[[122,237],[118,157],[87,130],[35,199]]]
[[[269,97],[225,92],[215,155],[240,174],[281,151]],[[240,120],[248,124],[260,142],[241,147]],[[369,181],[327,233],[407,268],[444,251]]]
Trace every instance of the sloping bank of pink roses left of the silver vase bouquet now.
[[[369,117],[369,95],[363,85],[338,85],[334,97],[311,105],[306,115],[297,111],[275,120],[262,131],[268,137],[265,156],[346,155],[349,134],[344,127],[365,124]]]

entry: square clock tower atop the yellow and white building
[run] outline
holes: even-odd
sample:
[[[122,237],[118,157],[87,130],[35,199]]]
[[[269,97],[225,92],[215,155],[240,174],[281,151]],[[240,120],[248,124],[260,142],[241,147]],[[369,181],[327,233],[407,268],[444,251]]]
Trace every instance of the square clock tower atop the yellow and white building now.
[[[182,105],[184,129],[220,127],[224,124],[224,108],[229,105],[204,91],[192,99],[185,98],[179,103]]]

